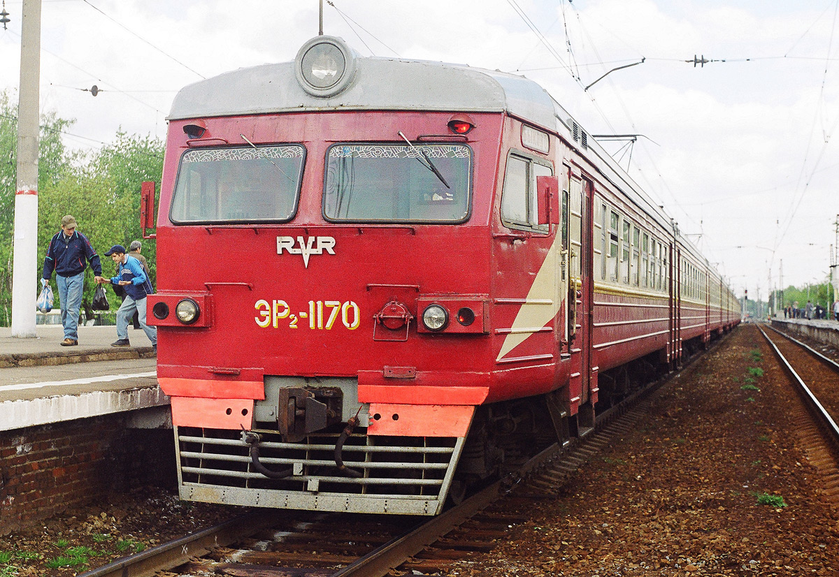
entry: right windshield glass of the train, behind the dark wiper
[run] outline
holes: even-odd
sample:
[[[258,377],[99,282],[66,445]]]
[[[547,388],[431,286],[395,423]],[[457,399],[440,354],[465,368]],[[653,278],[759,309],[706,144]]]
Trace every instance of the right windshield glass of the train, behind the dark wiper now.
[[[326,153],[324,216],[354,222],[466,221],[471,179],[472,149],[465,144],[336,144]]]

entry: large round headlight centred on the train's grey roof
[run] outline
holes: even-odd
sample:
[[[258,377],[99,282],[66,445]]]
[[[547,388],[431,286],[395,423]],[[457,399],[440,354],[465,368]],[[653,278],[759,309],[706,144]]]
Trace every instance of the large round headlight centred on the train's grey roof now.
[[[326,98],[343,91],[356,74],[356,54],[340,38],[315,36],[294,59],[300,86],[312,96]]]

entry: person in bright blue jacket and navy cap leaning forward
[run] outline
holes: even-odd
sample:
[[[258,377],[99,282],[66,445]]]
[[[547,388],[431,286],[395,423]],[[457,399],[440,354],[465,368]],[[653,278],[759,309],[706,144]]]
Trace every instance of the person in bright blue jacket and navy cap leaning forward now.
[[[128,321],[137,311],[140,326],[146,336],[152,341],[152,348],[157,352],[157,329],[154,326],[146,325],[146,295],[151,294],[152,287],[149,277],[143,264],[136,258],[129,257],[125,253],[125,247],[115,244],[105,253],[106,257],[117,264],[117,275],[107,279],[102,278],[102,283],[112,283],[125,289],[125,300],[117,310],[117,340],[111,346],[131,346],[128,341]]]

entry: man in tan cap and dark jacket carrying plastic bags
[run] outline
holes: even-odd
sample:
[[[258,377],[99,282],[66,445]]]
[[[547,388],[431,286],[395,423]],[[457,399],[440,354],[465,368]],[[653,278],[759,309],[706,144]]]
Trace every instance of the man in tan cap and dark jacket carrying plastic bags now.
[[[61,346],[79,344],[79,307],[81,293],[85,288],[85,268],[91,263],[96,283],[102,280],[102,264],[91,242],[76,231],[76,219],[70,215],[61,219],[61,230],[50,240],[47,256],[44,258],[44,274],[41,284],[46,286],[55,271],[58,298],[61,303],[61,325],[64,325],[64,340]]]

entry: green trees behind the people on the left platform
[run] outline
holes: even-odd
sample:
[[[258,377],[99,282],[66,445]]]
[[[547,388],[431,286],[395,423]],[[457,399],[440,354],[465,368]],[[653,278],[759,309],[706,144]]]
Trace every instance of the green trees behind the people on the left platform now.
[[[11,324],[17,122],[17,106],[8,92],[0,92],[0,326]],[[78,230],[90,239],[101,255],[103,275],[112,276],[113,264],[102,254],[114,244],[128,247],[130,242],[142,239],[139,226],[140,185],[143,180],[159,183],[163,173],[164,143],[149,136],[139,137],[120,131],[112,143],[99,151],[68,151],[61,140],[61,132],[73,122],[57,117],[54,112],[41,115],[38,276],[32,279],[34,291],[40,288],[39,278],[47,244],[60,230],[61,217],[66,214],[76,216]],[[152,282],[155,283],[154,240],[143,242],[143,256],[149,261]],[[55,282],[53,284],[57,296]],[[87,268],[83,302],[91,302],[95,289],[93,274]],[[119,299],[110,300],[112,305],[119,303]]]

